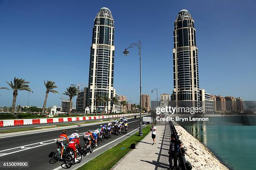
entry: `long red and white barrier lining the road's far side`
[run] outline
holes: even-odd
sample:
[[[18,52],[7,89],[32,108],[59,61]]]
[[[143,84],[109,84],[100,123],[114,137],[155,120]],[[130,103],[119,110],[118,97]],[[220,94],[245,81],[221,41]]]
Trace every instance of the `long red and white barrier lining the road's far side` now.
[[[114,118],[114,117],[133,116],[133,115],[139,115],[139,113],[130,113],[130,114],[123,114],[123,115],[0,120],[0,126],[34,125],[34,124],[55,123],[55,122],[75,122],[75,121],[81,121],[81,120],[95,120],[95,119],[104,119],[108,117]]]

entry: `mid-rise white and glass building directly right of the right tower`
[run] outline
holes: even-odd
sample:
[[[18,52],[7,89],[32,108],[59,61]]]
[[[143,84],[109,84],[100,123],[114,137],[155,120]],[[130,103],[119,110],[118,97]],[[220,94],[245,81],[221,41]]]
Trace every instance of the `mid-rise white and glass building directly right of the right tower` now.
[[[199,90],[200,107],[202,107],[203,113],[214,113],[214,100],[211,100],[211,95],[206,93],[204,89]]]

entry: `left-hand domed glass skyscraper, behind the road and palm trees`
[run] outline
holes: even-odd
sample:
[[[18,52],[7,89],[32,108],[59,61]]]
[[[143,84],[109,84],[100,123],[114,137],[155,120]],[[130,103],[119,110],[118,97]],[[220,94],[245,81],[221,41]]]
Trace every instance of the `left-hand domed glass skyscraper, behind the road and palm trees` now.
[[[111,11],[102,7],[97,13],[92,28],[92,46],[90,52],[89,84],[86,106],[91,112],[96,111],[95,98],[97,95],[113,98],[114,80],[114,20]],[[111,109],[110,102],[106,106]],[[102,112],[104,105],[98,106],[98,111]]]

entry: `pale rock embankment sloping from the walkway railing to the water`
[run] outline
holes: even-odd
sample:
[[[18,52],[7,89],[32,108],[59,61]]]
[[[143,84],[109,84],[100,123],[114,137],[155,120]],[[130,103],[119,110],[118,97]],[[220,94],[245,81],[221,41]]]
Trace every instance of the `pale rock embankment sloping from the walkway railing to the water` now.
[[[186,148],[185,158],[191,163],[195,170],[228,170],[220,161],[213,155],[196,138],[190,135],[181,126],[175,126],[179,139],[182,140],[182,145]]]

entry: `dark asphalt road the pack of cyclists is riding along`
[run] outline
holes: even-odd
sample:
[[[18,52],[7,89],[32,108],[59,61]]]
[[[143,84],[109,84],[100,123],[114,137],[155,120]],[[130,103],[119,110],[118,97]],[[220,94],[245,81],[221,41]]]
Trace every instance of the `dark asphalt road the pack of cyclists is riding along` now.
[[[129,119],[128,134],[121,134],[120,136],[112,135],[111,139],[104,140],[100,146],[95,148],[94,152],[87,154],[82,158],[82,163],[95,158],[105,150],[112,148],[117,143],[120,143],[125,138],[136,133],[139,127],[139,118]],[[88,125],[76,128],[67,129],[67,134],[74,133],[74,130],[79,130],[80,133],[87,132],[88,130],[95,130],[99,125]],[[64,127],[65,128],[65,127]],[[24,170],[56,170],[66,168],[63,162],[53,164],[51,161],[52,153],[57,149],[55,139],[61,134],[62,130],[55,130],[48,132],[47,129],[42,133],[12,136],[0,139],[0,161],[29,161],[28,168],[19,168]],[[132,132],[133,131],[133,132]],[[82,140],[83,136],[81,136]],[[81,145],[84,145],[82,140]],[[73,165],[71,169],[79,167],[80,164]],[[62,167],[63,168],[62,168]],[[1,169],[18,169],[18,168],[1,168]]]

